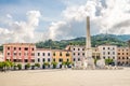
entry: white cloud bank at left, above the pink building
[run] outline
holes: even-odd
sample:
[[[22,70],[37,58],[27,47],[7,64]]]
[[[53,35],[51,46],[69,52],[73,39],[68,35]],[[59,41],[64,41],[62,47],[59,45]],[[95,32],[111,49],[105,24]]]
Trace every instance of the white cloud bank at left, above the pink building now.
[[[36,41],[35,32],[39,24],[39,11],[28,11],[27,22],[10,20],[8,28],[0,28],[1,43],[4,42],[34,42]],[[38,40],[38,39],[37,39]]]

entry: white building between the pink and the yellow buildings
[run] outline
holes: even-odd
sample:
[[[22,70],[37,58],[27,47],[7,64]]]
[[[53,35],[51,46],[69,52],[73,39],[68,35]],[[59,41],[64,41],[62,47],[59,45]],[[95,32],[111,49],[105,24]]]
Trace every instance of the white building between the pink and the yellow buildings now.
[[[49,62],[51,64],[52,61],[52,52],[51,49],[37,48],[35,53],[35,62],[40,63],[40,68],[42,68],[43,62]]]

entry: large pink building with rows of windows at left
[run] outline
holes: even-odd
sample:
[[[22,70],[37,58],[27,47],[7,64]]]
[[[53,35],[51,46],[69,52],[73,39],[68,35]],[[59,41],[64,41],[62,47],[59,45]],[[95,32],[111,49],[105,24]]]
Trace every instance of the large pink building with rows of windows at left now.
[[[35,62],[36,45],[32,43],[3,44],[4,60],[12,62]]]

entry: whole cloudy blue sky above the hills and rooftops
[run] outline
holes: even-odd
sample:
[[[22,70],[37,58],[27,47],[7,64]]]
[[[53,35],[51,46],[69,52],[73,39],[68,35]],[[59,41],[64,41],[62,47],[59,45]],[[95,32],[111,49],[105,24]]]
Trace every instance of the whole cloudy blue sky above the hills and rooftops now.
[[[130,0],[0,0],[0,44],[130,34]]]

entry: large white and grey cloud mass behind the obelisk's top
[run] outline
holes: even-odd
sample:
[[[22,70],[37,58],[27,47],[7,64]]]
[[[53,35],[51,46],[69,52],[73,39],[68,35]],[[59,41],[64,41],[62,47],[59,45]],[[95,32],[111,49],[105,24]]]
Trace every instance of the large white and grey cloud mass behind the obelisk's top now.
[[[115,34],[130,34],[130,24],[125,24],[126,20],[130,20],[130,0],[88,0],[86,4],[68,5],[63,11],[64,25],[61,27],[56,22],[50,27],[51,33],[54,33],[53,39],[57,35],[61,37],[58,39],[84,35],[87,15],[91,18],[92,34],[106,31]],[[120,24],[121,26],[118,27]],[[55,27],[56,29],[53,29]]]

